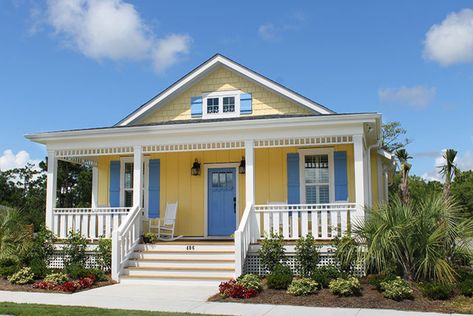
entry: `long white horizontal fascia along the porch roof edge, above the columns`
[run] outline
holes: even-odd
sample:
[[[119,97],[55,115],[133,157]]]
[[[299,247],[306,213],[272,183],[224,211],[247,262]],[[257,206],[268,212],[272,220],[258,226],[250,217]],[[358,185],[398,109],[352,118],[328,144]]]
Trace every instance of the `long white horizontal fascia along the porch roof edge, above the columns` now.
[[[361,116],[361,117],[360,117]],[[111,146],[180,144],[187,142],[232,141],[309,136],[360,134],[363,123],[376,120],[376,114],[350,117],[313,116],[248,121],[221,121],[158,126],[132,126],[107,129],[27,135],[48,148],[95,148]]]

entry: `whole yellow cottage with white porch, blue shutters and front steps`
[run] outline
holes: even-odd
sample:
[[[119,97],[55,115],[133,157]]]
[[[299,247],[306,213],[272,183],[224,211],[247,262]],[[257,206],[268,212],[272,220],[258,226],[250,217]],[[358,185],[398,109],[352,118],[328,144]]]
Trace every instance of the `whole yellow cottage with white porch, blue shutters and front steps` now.
[[[27,135],[47,147],[47,227],[112,238],[116,280],[174,283],[261,272],[271,231],[329,246],[387,199],[380,137],[380,114],[336,113],[219,54],[114,126]],[[91,208],[56,207],[58,160],[92,166]],[[181,238],[143,244],[175,204]]]

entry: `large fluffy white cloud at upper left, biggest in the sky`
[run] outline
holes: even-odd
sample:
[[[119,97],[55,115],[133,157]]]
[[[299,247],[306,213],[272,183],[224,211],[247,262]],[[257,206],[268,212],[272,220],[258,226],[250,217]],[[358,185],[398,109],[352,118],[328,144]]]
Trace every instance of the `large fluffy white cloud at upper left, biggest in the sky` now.
[[[162,72],[189,51],[189,36],[157,38],[123,0],[49,0],[46,11],[63,44],[92,59],[150,60]]]

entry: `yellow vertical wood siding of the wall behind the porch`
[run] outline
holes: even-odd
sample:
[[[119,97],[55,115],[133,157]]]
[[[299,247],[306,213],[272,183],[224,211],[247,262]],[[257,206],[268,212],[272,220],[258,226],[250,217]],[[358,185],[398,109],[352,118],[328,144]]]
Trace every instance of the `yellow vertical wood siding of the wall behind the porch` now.
[[[353,146],[338,145],[336,151],[347,152],[349,201],[355,200]],[[257,204],[287,201],[287,154],[296,153],[297,147],[264,148],[255,150],[255,200]],[[243,150],[216,150],[152,154],[149,159],[160,159],[160,209],[166,203],[179,202],[176,234],[204,235],[204,164],[240,163]],[[201,163],[201,175],[191,176],[194,159]],[[99,159],[99,205],[108,205],[110,161],[119,157]],[[245,176],[238,175],[238,204],[241,217],[245,208]]]

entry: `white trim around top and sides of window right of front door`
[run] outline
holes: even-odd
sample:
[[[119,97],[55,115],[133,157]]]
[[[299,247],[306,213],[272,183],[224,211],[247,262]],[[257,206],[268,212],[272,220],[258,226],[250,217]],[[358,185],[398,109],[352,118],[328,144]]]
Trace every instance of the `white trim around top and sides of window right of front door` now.
[[[328,172],[329,172],[329,202],[335,202],[335,168],[333,161],[333,148],[309,148],[309,149],[299,149],[299,182],[300,182],[300,200],[302,204],[306,203],[305,196],[305,156],[309,155],[327,155],[328,156]]]

